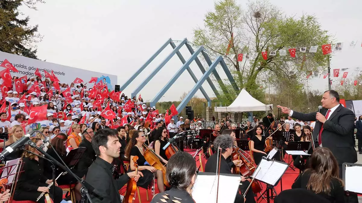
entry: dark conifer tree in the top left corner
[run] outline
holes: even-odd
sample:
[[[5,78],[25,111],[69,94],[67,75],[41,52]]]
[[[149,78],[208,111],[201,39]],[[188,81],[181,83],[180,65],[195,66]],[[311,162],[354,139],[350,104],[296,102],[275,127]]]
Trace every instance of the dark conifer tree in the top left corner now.
[[[29,16],[21,19],[19,12],[21,5],[36,10],[37,3],[44,1],[0,0],[0,51],[38,59],[36,43],[42,39],[38,25],[29,26]]]

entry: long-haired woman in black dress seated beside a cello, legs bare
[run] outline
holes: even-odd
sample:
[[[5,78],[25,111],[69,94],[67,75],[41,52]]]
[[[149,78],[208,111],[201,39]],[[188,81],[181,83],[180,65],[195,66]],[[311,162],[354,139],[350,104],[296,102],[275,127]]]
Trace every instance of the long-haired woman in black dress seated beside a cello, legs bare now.
[[[144,149],[143,149],[143,143],[146,142],[146,139],[144,137],[144,134],[142,131],[136,130],[132,137],[130,138],[130,142],[127,144],[126,147],[126,156],[130,157],[130,167],[128,171],[135,170],[135,165],[133,162],[133,157],[138,156],[138,170],[142,171],[143,177],[140,177],[140,179],[137,182],[137,185],[143,188],[149,188],[150,184],[153,180],[153,173],[157,173],[157,187],[160,192],[165,191],[165,186],[163,183],[163,174],[161,170],[155,169],[155,167],[150,166],[146,159],[144,158]]]

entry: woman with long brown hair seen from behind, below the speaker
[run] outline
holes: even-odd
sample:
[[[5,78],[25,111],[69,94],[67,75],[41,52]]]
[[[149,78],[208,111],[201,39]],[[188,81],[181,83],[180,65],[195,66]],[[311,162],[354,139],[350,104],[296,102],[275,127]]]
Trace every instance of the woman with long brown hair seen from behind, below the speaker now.
[[[338,176],[338,163],[331,150],[317,147],[310,157],[310,168],[300,174],[292,188],[308,189],[331,203],[344,203],[344,183]]]

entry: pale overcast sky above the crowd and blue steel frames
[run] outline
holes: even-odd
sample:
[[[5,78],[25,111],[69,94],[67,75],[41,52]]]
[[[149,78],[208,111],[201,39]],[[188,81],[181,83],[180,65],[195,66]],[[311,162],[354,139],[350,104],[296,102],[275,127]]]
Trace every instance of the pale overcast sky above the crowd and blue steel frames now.
[[[362,8],[362,1],[270,2],[281,8],[286,16],[315,14],[323,29],[328,30],[338,42],[344,42],[343,51],[332,57],[331,69],[362,67],[359,58],[362,55],[362,27],[359,26],[362,17],[358,11]],[[246,8],[245,1],[238,0],[237,3]],[[37,8],[31,10],[22,7],[21,12],[29,15],[31,25],[39,25],[39,33],[43,35],[42,42],[38,43],[39,59],[114,74],[122,86],[169,38],[192,41],[193,29],[203,27],[205,13],[213,10],[214,1],[46,0]],[[349,46],[352,40],[358,40],[354,48]],[[167,46],[123,92],[131,95],[171,51],[171,46]],[[180,52],[186,60],[190,56],[185,46]],[[181,65],[176,55],[172,57],[138,94],[144,100],[152,100]],[[195,62],[191,63],[190,68],[197,78],[201,78],[202,73]],[[222,78],[226,78],[221,67],[218,66],[217,71]],[[308,84],[310,90],[324,91],[328,88],[328,81],[323,77],[311,78]],[[180,96],[194,85],[185,71],[165,93],[162,101],[180,100]],[[210,97],[214,96],[207,82],[202,86]],[[199,90],[196,95],[203,98]]]

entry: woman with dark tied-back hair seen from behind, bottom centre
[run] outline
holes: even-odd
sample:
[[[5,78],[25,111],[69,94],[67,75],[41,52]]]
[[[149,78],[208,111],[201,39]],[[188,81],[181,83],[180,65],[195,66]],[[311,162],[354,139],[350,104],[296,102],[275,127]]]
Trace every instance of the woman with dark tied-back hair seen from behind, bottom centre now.
[[[196,162],[189,153],[177,152],[171,156],[166,167],[166,177],[171,189],[156,194],[151,203],[195,202],[191,193],[196,180]]]

